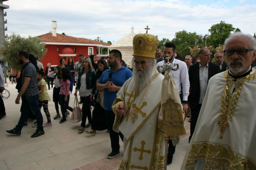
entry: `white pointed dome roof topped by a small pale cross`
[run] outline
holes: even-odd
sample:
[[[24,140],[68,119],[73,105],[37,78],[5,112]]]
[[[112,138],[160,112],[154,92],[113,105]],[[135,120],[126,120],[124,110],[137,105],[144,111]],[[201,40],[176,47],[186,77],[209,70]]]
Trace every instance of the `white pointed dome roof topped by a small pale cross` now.
[[[117,49],[118,47],[133,47],[133,37],[136,35],[136,33],[133,32],[133,29],[134,28],[131,27],[131,33],[109,46],[109,49]]]

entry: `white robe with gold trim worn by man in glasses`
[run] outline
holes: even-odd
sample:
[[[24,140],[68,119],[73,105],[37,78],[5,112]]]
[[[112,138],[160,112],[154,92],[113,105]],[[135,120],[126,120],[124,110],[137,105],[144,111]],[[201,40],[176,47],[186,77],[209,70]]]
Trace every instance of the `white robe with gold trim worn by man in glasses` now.
[[[209,80],[181,169],[256,169],[255,93],[254,69],[236,81],[228,71]],[[225,105],[228,126],[220,138],[219,121]]]

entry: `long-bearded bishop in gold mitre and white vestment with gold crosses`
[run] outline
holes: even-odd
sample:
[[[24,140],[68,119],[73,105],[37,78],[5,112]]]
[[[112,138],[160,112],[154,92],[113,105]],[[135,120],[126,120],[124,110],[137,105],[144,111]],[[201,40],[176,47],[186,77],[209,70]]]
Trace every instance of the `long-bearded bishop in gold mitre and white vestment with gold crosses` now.
[[[166,169],[168,138],[177,145],[185,135],[184,111],[170,75],[155,68],[157,37],[133,38],[133,74],[113,103],[113,130],[124,135],[124,156],[119,169]]]

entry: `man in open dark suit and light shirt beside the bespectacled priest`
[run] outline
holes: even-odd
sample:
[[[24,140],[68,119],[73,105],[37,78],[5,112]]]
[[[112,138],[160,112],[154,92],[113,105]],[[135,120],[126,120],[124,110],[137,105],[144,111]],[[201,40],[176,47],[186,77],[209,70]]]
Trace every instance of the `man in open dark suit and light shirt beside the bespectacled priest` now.
[[[188,75],[190,79],[190,95],[188,101],[191,108],[190,137],[194,133],[198,115],[203,103],[209,79],[220,71],[217,64],[210,62],[210,50],[201,48],[199,51],[200,62],[190,66]]]

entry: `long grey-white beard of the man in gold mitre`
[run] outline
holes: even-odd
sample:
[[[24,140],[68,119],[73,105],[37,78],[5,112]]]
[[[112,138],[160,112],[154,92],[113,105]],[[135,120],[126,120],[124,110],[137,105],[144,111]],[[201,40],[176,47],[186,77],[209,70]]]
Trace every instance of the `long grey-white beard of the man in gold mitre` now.
[[[154,64],[149,64],[145,68],[138,69],[135,67],[135,63],[133,62],[133,89],[135,95],[140,94],[144,89],[147,88],[147,86],[149,86],[154,68]],[[142,70],[143,72],[139,70]]]

